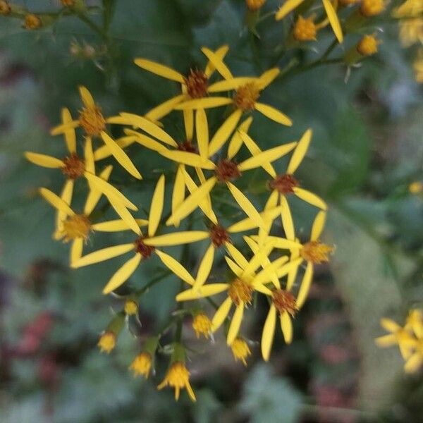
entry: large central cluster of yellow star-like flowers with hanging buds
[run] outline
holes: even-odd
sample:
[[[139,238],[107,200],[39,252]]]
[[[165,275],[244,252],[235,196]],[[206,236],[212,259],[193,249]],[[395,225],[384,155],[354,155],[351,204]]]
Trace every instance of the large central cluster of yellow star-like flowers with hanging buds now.
[[[61,124],[51,130],[52,135],[64,137],[64,157],[35,152],[26,152],[25,156],[34,164],[56,169],[65,180],[59,195],[47,188],[40,188],[39,192],[56,209],[54,238],[72,243],[72,268],[128,255],[125,264],[116,269],[103,288],[103,293],[109,294],[128,281],[143,262],[158,260],[167,274],[174,274],[186,284],[186,288],[181,285],[176,302],[192,315],[192,329],[197,338],[210,338],[223,327],[235,360],[244,364],[251,351],[240,334],[243,316],[252,302],[262,296],[269,303],[262,331],[262,356],[269,360],[276,319],[280,321],[286,343],[290,343],[292,319],[305,303],[314,266],[327,262],[333,250],[320,242],[326,203],[302,188],[295,178],[312,140],[312,130],[306,130],[298,141],[262,149],[263,141],[254,140],[248,134],[255,114],[281,125],[293,124],[282,111],[260,101],[262,92],[278,77],[278,68],[271,68],[258,77],[235,76],[224,60],[227,46],[215,51],[203,47],[202,53],[206,59],[204,68],[190,69],[185,75],[149,59],[135,59],[144,71],[177,82],[181,90],[145,116],[127,112],[104,116],[90,92],[80,87],[82,104],[78,114],[72,115],[63,109]],[[226,118],[212,132],[209,109],[222,106],[225,113],[220,116]],[[181,139],[176,140],[160,123],[171,113],[182,117],[185,135]],[[119,125],[124,135],[113,139],[111,125]],[[82,152],[79,137],[82,137]],[[173,176],[161,174],[157,178],[148,212],[145,204],[134,204],[110,182],[111,164],[101,166],[108,158],[142,185],[142,175],[133,162],[135,155],[130,157],[125,151],[130,145],[152,151],[175,168]],[[285,166],[279,163],[282,157],[286,157]],[[264,191],[267,199],[261,207],[239,183],[244,174],[253,170],[257,176],[267,175],[268,189]],[[73,207],[74,187],[80,183],[87,192],[82,211]],[[171,204],[165,200],[166,187],[172,193]],[[102,219],[97,207],[102,197],[116,212],[116,219]],[[315,219],[306,239],[295,231],[290,197],[298,197],[314,209]],[[230,216],[219,213],[219,201],[223,198],[244,214],[241,220],[231,221]],[[147,214],[133,215],[141,209]],[[166,217],[165,209],[168,209]],[[193,216],[200,216],[201,220]],[[282,223],[281,228],[274,224],[276,221]],[[97,231],[125,231],[128,241],[85,253],[87,240],[92,241]],[[184,245],[185,252],[189,252],[190,245],[195,245],[197,254],[200,252],[197,266],[190,264],[192,259],[180,260],[165,251],[166,247],[176,245]],[[226,277],[219,283],[211,282],[210,276],[218,269]],[[138,301],[144,292],[145,289],[140,288],[125,295],[122,312],[116,314],[99,339],[102,351],[110,353],[125,321],[138,316]],[[203,299],[211,297],[216,298],[212,300],[216,311],[209,317],[207,302]],[[172,386],[176,399],[180,389],[186,388],[190,398],[195,400],[180,338],[184,315],[175,317],[179,329],[170,345],[173,353],[168,373],[159,388]],[[130,364],[135,375],[147,377],[154,369],[154,357],[161,348],[159,341],[160,336],[144,341],[141,353]]]

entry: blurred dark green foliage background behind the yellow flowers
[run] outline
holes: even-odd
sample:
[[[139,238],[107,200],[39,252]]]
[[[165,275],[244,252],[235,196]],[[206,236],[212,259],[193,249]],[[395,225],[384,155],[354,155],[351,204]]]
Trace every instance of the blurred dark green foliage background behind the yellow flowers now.
[[[342,64],[300,71],[331,44],[329,31],[319,33],[319,42],[283,54],[279,46],[289,18],[259,24],[257,39],[245,29],[242,0],[103,3],[115,7],[111,60],[104,40],[78,18],[39,31],[0,19],[1,422],[422,422],[422,375],[405,376],[398,351],[374,345],[383,333],[381,317],[402,321],[423,300],[423,198],[408,190],[423,180],[423,97],[410,57],[400,49],[396,22],[384,21],[379,54],[347,75]],[[268,0],[263,13],[279,3]],[[20,4],[35,11],[58,6],[52,0]],[[92,19],[100,18],[94,8]],[[348,36],[333,57],[342,57],[358,39],[360,34]],[[235,75],[258,75],[271,66],[285,71],[263,95],[293,118],[293,127],[257,116],[251,134],[262,147],[271,147],[313,128],[298,178],[329,202],[324,240],[336,245],[336,253],[315,277],[295,320],[293,344],[287,347],[278,334],[269,364],[253,342],[245,369],[233,362],[220,336],[204,348],[205,341],[190,335],[195,348],[189,367],[197,392],[191,405],[185,395],[173,403],[171,391],[157,392],[154,381],[133,379],[127,367],[140,345],[128,331],[110,356],[97,350],[111,309],[121,307],[101,295],[116,263],[67,268],[68,245],[51,239],[54,214],[37,195],[39,186],[58,192],[62,181],[54,171],[25,162],[23,151],[60,157],[63,142],[50,137],[49,128],[59,122],[62,106],[78,110],[78,85],[90,89],[106,116],[145,114],[177,87],[141,71],[135,57],[185,73],[202,65],[200,47],[221,44],[231,48],[227,63]],[[210,122],[214,129],[219,125]],[[164,124],[183,137],[177,113]],[[130,149],[130,156],[147,182],[128,185],[125,192],[147,205],[148,181],[173,169],[139,147]],[[119,184],[126,176],[115,166],[113,178]],[[255,178],[244,183],[245,191],[264,200]],[[79,192],[82,202],[81,197]],[[237,213],[221,207],[223,213]],[[308,233],[313,212],[293,203],[299,233]],[[118,243],[119,237],[96,236],[96,247]],[[140,287],[156,271],[154,265],[143,266],[132,283]],[[142,297],[145,333],[161,326],[175,307],[177,284],[168,279]],[[266,313],[266,305],[256,307],[244,326],[252,339],[259,339]],[[189,322],[185,333],[191,333]]]

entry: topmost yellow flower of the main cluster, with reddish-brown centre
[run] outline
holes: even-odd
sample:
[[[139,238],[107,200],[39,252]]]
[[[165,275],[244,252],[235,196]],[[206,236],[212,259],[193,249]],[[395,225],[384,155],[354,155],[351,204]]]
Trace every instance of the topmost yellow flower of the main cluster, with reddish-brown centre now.
[[[168,66],[161,65],[148,59],[138,58],[135,59],[135,64],[146,71],[155,73],[168,80],[179,82],[182,86],[182,94],[172,97],[166,100],[166,102],[159,104],[150,110],[145,118],[151,121],[159,121],[171,111],[175,109],[175,106],[180,102],[187,99],[200,99],[207,97],[209,94],[209,78],[213,75],[214,71],[218,71],[223,78],[232,78],[231,71],[223,64],[222,60],[228,52],[228,46],[222,46],[216,51],[202,47],[203,54],[209,59],[207,66],[203,70],[190,69],[188,75],[184,76],[178,71],[175,71]],[[217,65],[217,66],[216,66]],[[192,128],[194,117],[192,111],[184,111],[185,125],[188,128]],[[189,130],[190,131],[190,130]],[[192,133],[192,132],[191,132]]]

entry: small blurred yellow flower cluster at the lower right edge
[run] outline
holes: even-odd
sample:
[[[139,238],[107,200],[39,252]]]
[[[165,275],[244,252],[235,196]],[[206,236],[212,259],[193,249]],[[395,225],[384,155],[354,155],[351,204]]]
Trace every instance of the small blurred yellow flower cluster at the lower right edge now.
[[[376,345],[384,348],[398,345],[405,360],[405,372],[417,372],[423,364],[423,311],[411,309],[404,326],[391,319],[381,319],[381,326],[390,333],[376,338]]]

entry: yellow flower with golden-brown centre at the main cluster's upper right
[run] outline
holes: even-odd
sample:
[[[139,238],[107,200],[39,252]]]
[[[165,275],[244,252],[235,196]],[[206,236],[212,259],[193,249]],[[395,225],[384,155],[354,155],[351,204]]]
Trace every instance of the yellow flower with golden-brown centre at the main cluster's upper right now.
[[[218,63],[216,62],[215,65]],[[223,62],[220,61],[223,65]],[[293,122],[278,109],[275,109],[269,104],[259,103],[262,91],[268,87],[271,82],[279,75],[278,68],[269,69],[264,72],[259,78],[255,77],[240,77],[240,78],[226,78],[226,80],[215,82],[209,86],[209,92],[226,92],[234,90],[233,98],[228,97],[208,97],[201,99],[191,99],[182,102],[175,106],[176,110],[192,110],[192,109],[209,109],[211,107],[219,107],[228,104],[233,104],[235,111],[228,116],[221,128],[224,128],[224,133],[231,133],[235,126],[240,121],[241,116],[246,111],[257,110],[267,118],[282,125],[291,126]],[[223,132],[223,129],[221,129]],[[230,135],[230,134],[229,134]],[[228,135],[228,136],[229,136]],[[222,134],[223,136],[223,134]]]

